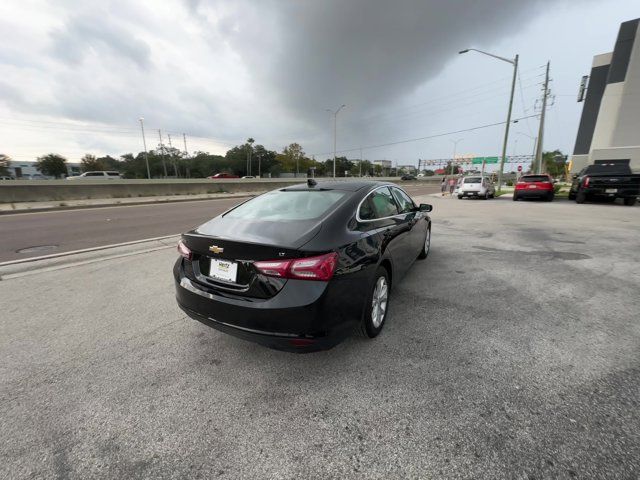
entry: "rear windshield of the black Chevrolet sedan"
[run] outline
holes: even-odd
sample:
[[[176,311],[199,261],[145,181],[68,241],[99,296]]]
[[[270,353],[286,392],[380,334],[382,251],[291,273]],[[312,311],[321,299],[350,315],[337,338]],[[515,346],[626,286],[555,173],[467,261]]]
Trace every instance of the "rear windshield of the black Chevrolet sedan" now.
[[[249,200],[224,216],[244,220],[311,220],[325,215],[345,194],[337,190],[278,190]]]

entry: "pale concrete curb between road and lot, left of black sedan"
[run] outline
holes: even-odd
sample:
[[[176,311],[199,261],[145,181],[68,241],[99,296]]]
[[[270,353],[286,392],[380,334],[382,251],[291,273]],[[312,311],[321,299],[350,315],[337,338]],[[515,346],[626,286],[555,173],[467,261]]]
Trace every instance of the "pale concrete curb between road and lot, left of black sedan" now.
[[[42,257],[11,260],[0,263],[0,281],[175,248],[179,238],[179,234],[167,235]]]

